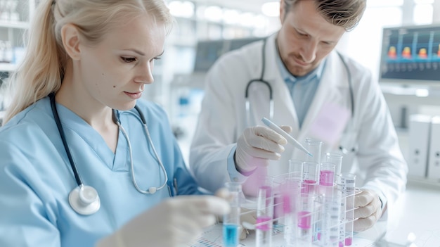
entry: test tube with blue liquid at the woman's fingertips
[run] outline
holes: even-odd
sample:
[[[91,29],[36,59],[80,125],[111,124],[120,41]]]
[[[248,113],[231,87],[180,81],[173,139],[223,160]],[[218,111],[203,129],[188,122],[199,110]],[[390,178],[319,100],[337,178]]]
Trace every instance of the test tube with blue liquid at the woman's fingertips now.
[[[226,189],[231,194],[229,205],[231,211],[223,217],[223,244],[225,247],[237,247],[240,237],[240,196],[241,184],[226,182]]]

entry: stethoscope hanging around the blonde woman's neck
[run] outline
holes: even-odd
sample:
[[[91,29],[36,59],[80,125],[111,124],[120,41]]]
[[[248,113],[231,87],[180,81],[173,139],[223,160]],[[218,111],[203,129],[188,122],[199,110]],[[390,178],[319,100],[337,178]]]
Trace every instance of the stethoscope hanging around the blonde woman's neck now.
[[[60,132],[61,140],[63,141],[63,146],[65,148],[65,151],[67,153],[67,158],[69,158],[70,167],[72,167],[73,174],[75,175],[75,180],[77,182],[77,187],[70,191],[69,194],[69,203],[75,212],[79,213],[80,215],[91,215],[93,213],[96,213],[99,208],[101,207],[101,200],[98,196],[98,191],[96,191],[95,188],[89,185],[84,185],[82,182],[81,177],[79,177],[79,172],[77,170],[77,166],[75,165],[75,162],[73,161],[72,154],[70,153],[69,145],[67,144],[67,141],[65,139],[65,134],[63,130],[63,125],[61,125],[60,116],[58,115],[58,110],[56,109],[56,102],[55,102],[55,94],[49,94],[49,99],[51,100],[51,108],[53,113],[53,118],[55,118],[56,126],[58,127],[58,132]],[[148,190],[144,191],[139,188],[138,184],[136,183],[136,177],[134,176],[134,167],[133,167],[133,153],[131,149],[131,142],[129,140],[129,137],[127,135],[127,132],[125,132],[124,127],[122,127],[119,119],[117,118],[117,110],[112,110],[112,120],[117,124],[119,130],[121,130],[122,134],[124,135],[125,139],[127,139],[127,144],[129,146],[129,154],[130,154],[130,169],[131,169],[131,179],[133,180],[133,184],[136,187],[136,190],[141,192],[142,194],[155,194],[156,191],[163,189],[165,186],[167,186],[168,182],[168,175],[167,171],[165,170],[164,165],[162,164],[162,160],[160,160],[159,156],[157,155],[155,146],[153,145],[153,141],[150,137],[150,132],[148,132],[147,123],[145,120],[145,117],[143,116],[141,110],[137,106],[134,106],[134,108],[137,110],[139,118],[141,118],[141,122],[143,124],[143,127],[145,129],[145,134],[147,136],[148,142],[150,143],[153,152],[155,153],[155,156],[157,158],[157,162],[160,165],[161,170],[164,172],[164,183],[159,186],[151,186],[148,188]],[[124,113],[130,113],[135,116],[137,116],[135,113],[131,113],[131,111],[124,111]]]

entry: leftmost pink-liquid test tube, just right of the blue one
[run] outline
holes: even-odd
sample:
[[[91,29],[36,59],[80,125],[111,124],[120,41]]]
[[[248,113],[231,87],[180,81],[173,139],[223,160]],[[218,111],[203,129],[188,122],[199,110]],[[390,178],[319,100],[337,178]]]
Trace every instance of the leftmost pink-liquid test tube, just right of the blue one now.
[[[257,247],[272,246],[273,196],[271,186],[260,186],[257,199],[257,224],[255,243]]]

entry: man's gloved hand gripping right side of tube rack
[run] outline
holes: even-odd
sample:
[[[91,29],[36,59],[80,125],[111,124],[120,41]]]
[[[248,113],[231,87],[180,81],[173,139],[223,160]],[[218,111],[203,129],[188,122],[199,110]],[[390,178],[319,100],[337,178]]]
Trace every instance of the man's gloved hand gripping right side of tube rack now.
[[[363,232],[382,216],[382,203],[375,191],[363,189],[354,196],[354,232]]]

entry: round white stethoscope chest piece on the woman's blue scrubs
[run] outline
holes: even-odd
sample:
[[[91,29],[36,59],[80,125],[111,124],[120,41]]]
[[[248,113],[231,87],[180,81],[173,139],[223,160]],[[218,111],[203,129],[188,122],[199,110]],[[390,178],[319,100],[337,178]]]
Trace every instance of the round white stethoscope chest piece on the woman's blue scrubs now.
[[[73,210],[80,215],[91,215],[101,207],[98,191],[87,185],[77,186],[70,191],[69,203]]]

